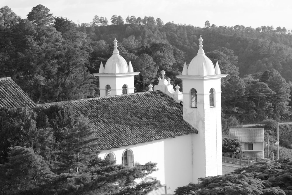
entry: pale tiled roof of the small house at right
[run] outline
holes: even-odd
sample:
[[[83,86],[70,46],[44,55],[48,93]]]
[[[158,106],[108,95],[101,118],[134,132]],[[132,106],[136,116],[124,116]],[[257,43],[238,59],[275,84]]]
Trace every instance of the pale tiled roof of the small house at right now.
[[[263,128],[238,128],[229,130],[229,138],[239,142],[264,142]]]

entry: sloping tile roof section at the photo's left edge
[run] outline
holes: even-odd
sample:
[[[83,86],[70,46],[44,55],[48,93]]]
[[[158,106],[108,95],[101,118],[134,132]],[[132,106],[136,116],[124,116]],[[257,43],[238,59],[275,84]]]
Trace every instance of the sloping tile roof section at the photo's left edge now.
[[[4,106],[32,109],[36,107],[36,104],[11,79],[11,77],[0,77],[0,108]]]

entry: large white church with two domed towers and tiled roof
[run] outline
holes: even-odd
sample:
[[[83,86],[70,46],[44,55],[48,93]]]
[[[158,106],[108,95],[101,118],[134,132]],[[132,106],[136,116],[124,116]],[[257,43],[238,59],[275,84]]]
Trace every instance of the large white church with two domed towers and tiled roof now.
[[[164,70],[154,90],[150,84],[148,92],[134,93],[134,75],[139,72],[119,55],[115,39],[112,56],[94,74],[100,80],[99,98],[37,106],[72,106],[76,115],[83,114],[94,125],[101,142],[99,157],[128,167],[155,162],[158,170],[144,181],[157,178],[163,184],[153,194],[173,194],[199,177],[222,175],[220,87],[226,75],[218,63],[214,68],[202,43],[200,37],[197,56],[176,76],[183,81],[183,93],[179,86],[173,89]]]

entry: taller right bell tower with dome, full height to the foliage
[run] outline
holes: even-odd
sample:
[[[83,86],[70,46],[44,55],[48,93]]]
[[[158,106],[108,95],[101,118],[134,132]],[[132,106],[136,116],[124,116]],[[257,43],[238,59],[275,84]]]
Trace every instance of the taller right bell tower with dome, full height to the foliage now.
[[[197,56],[176,76],[183,80],[183,120],[199,131],[192,135],[193,182],[222,175],[221,78],[226,76],[205,55],[202,37]]]

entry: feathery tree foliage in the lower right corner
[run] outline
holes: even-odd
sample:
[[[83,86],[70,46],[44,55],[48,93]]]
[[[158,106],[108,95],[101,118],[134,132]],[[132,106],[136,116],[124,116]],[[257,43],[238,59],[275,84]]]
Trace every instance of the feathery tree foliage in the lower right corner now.
[[[226,175],[199,178],[178,187],[175,195],[284,195],[292,194],[292,161],[259,162]]]

